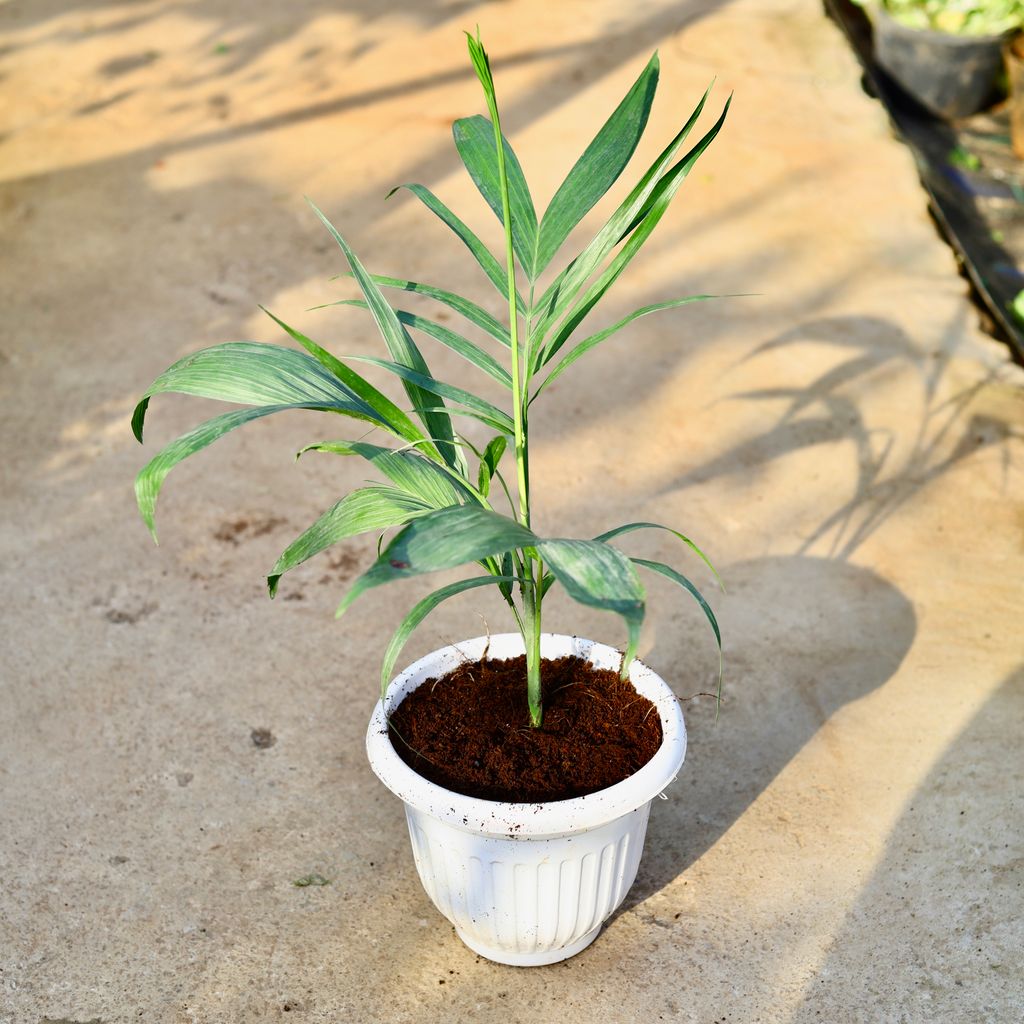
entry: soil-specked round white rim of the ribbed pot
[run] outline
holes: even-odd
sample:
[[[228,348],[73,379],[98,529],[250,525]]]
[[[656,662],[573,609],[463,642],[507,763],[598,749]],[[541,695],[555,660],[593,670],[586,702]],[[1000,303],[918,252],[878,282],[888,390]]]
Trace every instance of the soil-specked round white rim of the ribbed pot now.
[[[398,757],[388,736],[386,708],[396,707],[422,682],[443,675],[465,660],[490,656],[514,657],[523,652],[518,633],[474,637],[424,655],[396,676],[383,699],[377,701],[367,730],[367,755],[377,777],[407,804],[463,831],[502,839],[570,836],[613,821],[643,807],[676,777],[686,754],[686,726],[679,700],[668,684],[639,659],[630,667],[630,682],[650,699],[662,721],[662,745],[639,771],[605,790],[548,803],[512,804],[480,800],[453,793],[425,779]],[[622,651],[582,637],[544,633],[546,657],[577,654],[599,668],[616,669]]]

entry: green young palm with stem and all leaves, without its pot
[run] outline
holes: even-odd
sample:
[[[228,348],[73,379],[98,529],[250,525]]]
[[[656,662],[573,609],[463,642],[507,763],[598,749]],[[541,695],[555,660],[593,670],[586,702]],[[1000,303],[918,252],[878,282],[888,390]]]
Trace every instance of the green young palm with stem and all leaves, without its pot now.
[[[540,726],[542,606],[556,583],[577,601],[616,612],[625,621],[625,678],[644,616],[644,589],[637,567],[667,577],[699,603],[718,642],[721,666],[718,624],[697,588],[672,566],[630,558],[610,543],[633,530],[668,527],[631,522],[589,540],[546,538],[535,532],[530,519],[529,412],[554,380],[633,321],[710,297],[693,295],[646,305],[577,339],[578,328],[650,237],[686,175],[718,134],[729,104],[727,101],[699,141],[685,150],[687,137],[703,110],[708,97],[705,93],[685,125],[597,234],[557,272],[547,274],[544,284],[568,233],[617,180],[640,140],[657,85],[657,54],[650,58],[539,218],[519,162],[502,134],[487,55],[478,36],[467,38],[489,119],[475,116],[457,121],[455,142],[473,182],[504,227],[504,262],[428,188],[421,184],[399,187],[421,200],[466,246],[507,300],[507,323],[445,289],[370,273],[348,242],[313,207],[344,253],[347,272],[361,292],[361,298],[344,299],[340,304],[368,310],[387,347],[389,358],[364,356],[361,361],[398,378],[408,402],[396,403],[353,370],[355,357],[336,357],[270,313],[302,351],[250,342],[216,345],[175,362],[145,392],[132,423],[140,441],[150,399],[163,392],[219,398],[245,408],[217,416],[165,447],[139,473],[135,490],[142,518],[156,539],[156,503],[168,472],[236,427],[294,409],[335,413],[369,424],[387,435],[391,443],[334,440],[303,451],[360,457],[387,482],[346,495],[290,544],[268,577],[270,595],[289,569],[338,541],[367,531],[398,527],[344,597],[339,615],[373,587],[475,564],[479,572],[434,590],[404,617],[385,651],[382,687],[403,644],[433,608],[456,594],[495,585],[523,636],[526,699],[530,722]],[[449,307],[476,328],[502,358],[436,319],[393,307],[385,298],[387,290],[425,296]],[[438,379],[430,371],[414,334],[446,346],[496,381],[508,394],[507,407],[499,408]],[[457,418],[469,418],[482,425],[488,439],[471,441],[457,430]],[[513,481],[506,478],[502,468],[507,452],[513,463]],[[495,507],[496,499],[507,499],[508,513]],[[672,532],[708,562],[692,541],[676,530]]]

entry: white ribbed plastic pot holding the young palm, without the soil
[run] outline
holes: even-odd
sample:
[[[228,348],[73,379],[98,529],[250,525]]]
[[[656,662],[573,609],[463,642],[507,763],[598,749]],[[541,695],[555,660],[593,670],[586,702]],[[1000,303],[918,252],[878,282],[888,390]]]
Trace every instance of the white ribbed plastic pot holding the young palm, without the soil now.
[[[417,774],[395,753],[387,716],[407,693],[465,662],[523,652],[517,633],[443,647],[394,679],[367,733],[370,765],[406,804],[413,856],[427,895],[474,952],[534,967],[567,959],[597,938],[636,879],[650,803],[686,754],[682,711],[668,685],[640,662],[630,681],[662,721],[654,757],[615,785],[587,797],[510,804],[452,793]],[[618,670],[622,653],[579,637],[544,634],[545,658],[577,655]]]

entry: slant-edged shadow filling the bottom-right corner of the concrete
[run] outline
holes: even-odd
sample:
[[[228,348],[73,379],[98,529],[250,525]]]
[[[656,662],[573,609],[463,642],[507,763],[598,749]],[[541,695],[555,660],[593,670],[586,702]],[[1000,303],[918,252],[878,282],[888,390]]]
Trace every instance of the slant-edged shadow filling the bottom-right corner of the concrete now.
[[[1010,1021],[1024,944],[1020,815],[1024,761],[993,757],[1020,741],[1024,667],[1012,673],[907,801],[857,902],[792,1020]],[[1018,804],[1019,812],[1019,804]],[[884,949],[889,970],[845,971],[852,949]],[[935,965],[956,965],[936,971]],[[828,984],[820,979],[827,977]]]

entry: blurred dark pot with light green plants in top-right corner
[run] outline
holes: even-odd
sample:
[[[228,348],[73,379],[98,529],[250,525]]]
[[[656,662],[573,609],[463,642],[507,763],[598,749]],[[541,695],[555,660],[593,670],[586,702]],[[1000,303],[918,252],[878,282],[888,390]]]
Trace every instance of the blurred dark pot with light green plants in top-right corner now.
[[[854,0],[866,7],[874,57],[932,114],[962,118],[993,98],[1005,42],[1024,0]]]

